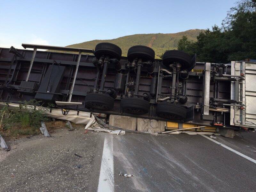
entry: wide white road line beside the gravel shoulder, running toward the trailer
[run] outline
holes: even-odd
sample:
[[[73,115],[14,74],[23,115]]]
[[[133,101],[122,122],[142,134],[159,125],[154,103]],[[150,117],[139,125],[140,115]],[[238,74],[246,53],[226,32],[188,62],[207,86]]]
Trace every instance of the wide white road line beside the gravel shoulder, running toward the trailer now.
[[[105,137],[98,192],[114,192],[113,138]]]

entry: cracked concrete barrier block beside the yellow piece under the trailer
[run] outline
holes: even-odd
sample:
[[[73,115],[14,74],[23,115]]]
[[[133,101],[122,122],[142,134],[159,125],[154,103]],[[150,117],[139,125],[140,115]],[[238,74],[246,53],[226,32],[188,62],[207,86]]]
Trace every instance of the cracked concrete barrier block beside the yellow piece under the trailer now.
[[[155,119],[137,118],[137,131],[156,133],[164,132],[165,122]]]

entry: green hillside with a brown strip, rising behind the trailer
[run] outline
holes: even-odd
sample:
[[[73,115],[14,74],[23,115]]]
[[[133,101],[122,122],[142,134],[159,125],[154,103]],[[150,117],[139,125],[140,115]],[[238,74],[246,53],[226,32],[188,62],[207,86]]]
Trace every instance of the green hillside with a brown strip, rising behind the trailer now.
[[[189,41],[196,41],[196,36],[204,29],[190,29],[179,33],[156,33],[156,34],[135,34],[109,40],[92,40],[67,47],[94,49],[95,45],[101,42],[109,42],[118,45],[122,49],[122,55],[127,56],[127,51],[134,45],[145,45],[154,49],[156,59],[159,59],[165,50],[177,49],[178,42],[182,36],[187,36]]]

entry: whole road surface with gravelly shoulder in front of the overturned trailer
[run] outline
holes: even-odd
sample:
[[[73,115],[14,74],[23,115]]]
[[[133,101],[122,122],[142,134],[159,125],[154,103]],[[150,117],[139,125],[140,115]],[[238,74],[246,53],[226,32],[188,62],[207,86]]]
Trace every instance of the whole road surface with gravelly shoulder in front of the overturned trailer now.
[[[256,191],[256,164],[201,135],[83,132],[10,143],[0,191]],[[216,140],[256,159],[255,133]]]

